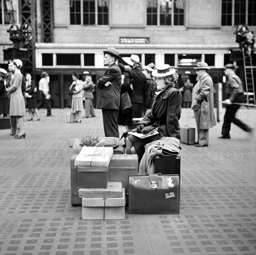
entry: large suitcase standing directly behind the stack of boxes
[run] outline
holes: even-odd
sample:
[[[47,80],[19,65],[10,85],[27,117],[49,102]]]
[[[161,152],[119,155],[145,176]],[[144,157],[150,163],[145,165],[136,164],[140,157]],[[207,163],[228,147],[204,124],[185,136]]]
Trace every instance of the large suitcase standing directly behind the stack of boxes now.
[[[82,198],[78,196],[78,172],[74,166],[77,155],[70,158],[70,183],[71,183],[71,204],[82,205]],[[109,162],[108,181],[122,182],[125,193],[128,193],[129,175],[138,174],[138,157],[137,155],[113,155]],[[127,196],[126,196],[127,198]]]

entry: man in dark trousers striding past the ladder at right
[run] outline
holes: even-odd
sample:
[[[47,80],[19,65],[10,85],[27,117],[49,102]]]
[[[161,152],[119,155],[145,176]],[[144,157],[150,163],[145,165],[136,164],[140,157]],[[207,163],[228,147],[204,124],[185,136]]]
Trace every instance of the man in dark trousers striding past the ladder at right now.
[[[243,121],[237,119],[236,112],[240,108],[240,105],[232,104],[232,102],[243,103],[243,84],[240,78],[235,74],[235,66],[233,64],[225,65],[225,76],[226,76],[226,95],[227,99],[224,101],[226,104],[226,112],[224,115],[224,123],[222,125],[220,139],[230,139],[230,126],[231,122],[242,128],[246,132],[251,132],[252,128],[246,125]]]

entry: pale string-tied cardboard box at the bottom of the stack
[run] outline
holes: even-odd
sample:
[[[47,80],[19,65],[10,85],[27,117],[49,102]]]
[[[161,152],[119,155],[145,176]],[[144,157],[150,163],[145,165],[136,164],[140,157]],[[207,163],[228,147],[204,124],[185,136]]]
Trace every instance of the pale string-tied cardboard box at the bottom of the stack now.
[[[125,195],[122,198],[82,198],[83,220],[125,219]]]

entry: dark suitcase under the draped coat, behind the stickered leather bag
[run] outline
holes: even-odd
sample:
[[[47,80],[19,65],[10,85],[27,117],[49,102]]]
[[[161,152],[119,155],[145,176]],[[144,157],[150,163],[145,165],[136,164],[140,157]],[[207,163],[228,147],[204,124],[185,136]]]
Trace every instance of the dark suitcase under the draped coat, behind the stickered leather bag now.
[[[156,156],[154,159],[154,173],[179,174],[180,178],[180,154]]]

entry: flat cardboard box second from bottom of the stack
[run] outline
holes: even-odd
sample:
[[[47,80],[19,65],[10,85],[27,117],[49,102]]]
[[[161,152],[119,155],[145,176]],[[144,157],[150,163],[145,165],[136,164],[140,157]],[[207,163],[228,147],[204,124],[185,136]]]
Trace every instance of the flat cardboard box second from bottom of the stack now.
[[[108,182],[108,187],[94,188],[94,189],[83,189],[80,188],[79,198],[122,198],[122,182]]]

